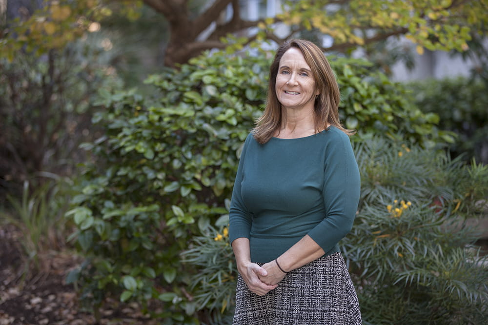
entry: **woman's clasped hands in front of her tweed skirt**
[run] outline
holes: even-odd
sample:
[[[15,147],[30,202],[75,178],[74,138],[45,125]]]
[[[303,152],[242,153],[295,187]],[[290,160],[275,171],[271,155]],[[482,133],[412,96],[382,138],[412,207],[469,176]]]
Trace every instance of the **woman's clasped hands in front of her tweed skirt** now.
[[[266,263],[263,266],[248,263],[239,272],[249,290],[258,296],[264,296],[276,288],[278,283],[285,277],[285,273],[273,262]]]

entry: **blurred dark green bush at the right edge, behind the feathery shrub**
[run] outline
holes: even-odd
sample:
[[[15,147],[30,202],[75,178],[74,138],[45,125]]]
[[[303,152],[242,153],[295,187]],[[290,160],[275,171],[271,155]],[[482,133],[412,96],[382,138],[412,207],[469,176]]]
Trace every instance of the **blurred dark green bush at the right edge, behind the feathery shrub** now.
[[[459,77],[428,80],[409,85],[417,106],[439,116],[439,127],[456,133],[450,146],[454,157],[488,164],[487,81]]]

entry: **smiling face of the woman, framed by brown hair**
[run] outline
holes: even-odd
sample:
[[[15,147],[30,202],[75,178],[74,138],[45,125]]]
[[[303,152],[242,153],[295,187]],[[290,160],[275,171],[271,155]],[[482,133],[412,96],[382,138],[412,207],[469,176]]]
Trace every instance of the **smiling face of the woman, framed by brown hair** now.
[[[312,71],[296,47],[291,47],[281,57],[275,84],[276,96],[283,108],[313,109],[315,87]]]

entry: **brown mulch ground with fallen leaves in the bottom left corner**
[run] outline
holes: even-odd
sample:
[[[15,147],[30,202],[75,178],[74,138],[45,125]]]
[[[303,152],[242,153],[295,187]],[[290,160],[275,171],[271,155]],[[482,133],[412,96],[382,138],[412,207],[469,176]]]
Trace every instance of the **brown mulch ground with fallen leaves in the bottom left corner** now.
[[[22,277],[26,263],[20,254],[19,231],[0,226],[0,325],[136,325],[158,324],[140,312],[137,304],[107,301],[99,322],[81,308],[67,272],[80,263],[69,252],[50,252],[37,271]],[[39,270],[40,269],[40,270]]]

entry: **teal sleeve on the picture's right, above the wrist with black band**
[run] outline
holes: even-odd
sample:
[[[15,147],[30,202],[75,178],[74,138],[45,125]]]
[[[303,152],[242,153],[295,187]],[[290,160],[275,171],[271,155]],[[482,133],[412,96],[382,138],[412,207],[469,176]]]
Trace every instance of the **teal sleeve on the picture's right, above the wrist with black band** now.
[[[346,134],[327,144],[324,171],[325,218],[308,235],[327,254],[351,231],[359,204],[360,173]]]

